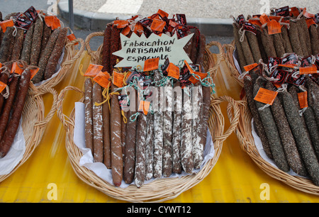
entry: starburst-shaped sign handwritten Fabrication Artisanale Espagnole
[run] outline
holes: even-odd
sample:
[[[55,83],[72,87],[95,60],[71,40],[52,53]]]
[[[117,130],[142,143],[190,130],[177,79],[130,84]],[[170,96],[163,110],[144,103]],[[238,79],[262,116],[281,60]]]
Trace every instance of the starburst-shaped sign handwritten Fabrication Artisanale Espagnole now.
[[[193,35],[194,33],[178,39],[177,34],[172,37],[166,34],[161,36],[151,34],[148,38],[144,34],[138,36],[133,33],[130,38],[121,34],[122,49],[113,52],[113,55],[123,57],[123,60],[118,62],[115,67],[136,67],[140,65],[144,68],[145,60],[154,58],[159,58],[159,65],[162,65],[167,58],[174,65],[178,65],[180,60],[191,63],[183,48]]]

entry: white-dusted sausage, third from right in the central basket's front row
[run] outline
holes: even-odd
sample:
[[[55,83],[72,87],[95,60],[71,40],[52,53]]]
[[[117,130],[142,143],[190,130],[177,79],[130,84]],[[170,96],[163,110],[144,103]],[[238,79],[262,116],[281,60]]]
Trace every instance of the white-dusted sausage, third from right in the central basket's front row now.
[[[183,89],[183,111],[181,116],[181,167],[186,173],[191,174],[194,169],[192,154],[192,133],[191,133],[191,88]]]

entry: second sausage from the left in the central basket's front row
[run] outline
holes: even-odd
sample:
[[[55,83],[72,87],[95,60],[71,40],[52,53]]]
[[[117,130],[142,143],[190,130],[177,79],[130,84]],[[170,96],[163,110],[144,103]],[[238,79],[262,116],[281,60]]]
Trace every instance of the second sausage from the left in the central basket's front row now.
[[[103,162],[103,116],[102,106],[96,105],[102,102],[102,88],[98,83],[93,84],[92,89],[92,115],[93,115],[93,158],[94,162]]]

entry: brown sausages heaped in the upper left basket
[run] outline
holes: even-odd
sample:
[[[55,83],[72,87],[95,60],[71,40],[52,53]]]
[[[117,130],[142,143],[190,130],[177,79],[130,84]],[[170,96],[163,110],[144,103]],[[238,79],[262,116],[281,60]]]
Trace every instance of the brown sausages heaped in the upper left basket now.
[[[4,18],[4,21],[12,20],[14,25],[0,32],[0,62],[23,60],[27,65],[39,67],[32,79],[36,84],[55,74],[67,42],[67,28],[52,30],[45,23],[42,11],[34,13],[32,20],[25,13],[10,13]]]

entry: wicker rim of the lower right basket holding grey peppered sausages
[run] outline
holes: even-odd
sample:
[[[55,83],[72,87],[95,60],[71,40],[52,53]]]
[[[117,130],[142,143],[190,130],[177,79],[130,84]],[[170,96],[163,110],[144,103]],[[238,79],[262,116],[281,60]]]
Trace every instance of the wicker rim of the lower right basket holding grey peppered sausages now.
[[[310,179],[292,176],[291,174],[283,172],[271,165],[259,155],[259,152],[254,143],[254,138],[252,136],[252,115],[247,105],[246,97],[244,97],[242,101],[237,101],[237,104],[240,108],[240,120],[235,129],[235,133],[238,140],[240,141],[240,147],[242,148],[242,150],[247,152],[247,154],[257,164],[257,166],[260,167],[262,171],[266,172],[270,177],[278,179],[284,184],[288,184],[289,186],[298,189],[299,191],[319,196],[319,187],[315,186],[313,182],[310,181]],[[230,118],[230,120],[231,119],[232,118]]]

